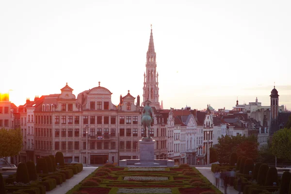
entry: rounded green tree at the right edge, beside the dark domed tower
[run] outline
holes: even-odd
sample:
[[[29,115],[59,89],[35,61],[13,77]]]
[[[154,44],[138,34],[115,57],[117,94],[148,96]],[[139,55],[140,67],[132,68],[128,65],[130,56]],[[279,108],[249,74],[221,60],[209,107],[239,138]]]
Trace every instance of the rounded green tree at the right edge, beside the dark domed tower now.
[[[284,128],[276,131],[272,138],[272,153],[278,158],[291,160],[291,130]]]

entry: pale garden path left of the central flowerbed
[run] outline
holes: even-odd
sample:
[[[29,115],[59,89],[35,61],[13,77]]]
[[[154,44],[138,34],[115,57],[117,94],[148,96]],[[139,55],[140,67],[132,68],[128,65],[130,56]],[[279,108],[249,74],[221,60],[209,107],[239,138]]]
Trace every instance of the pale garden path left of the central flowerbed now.
[[[75,185],[79,184],[84,178],[90,175],[98,167],[83,167],[83,170],[74,175],[74,177],[67,179],[62,185],[57,185],[57,187],[51,191],[47,191],[46,194],[65,194],[71,190]]]

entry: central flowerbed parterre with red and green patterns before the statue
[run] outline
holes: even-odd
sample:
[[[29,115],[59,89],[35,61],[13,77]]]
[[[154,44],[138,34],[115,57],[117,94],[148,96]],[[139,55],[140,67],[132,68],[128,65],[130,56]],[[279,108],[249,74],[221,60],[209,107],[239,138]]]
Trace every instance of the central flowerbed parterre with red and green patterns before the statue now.
[[[105,164],[67,194],[222,194],[196,168]]]

